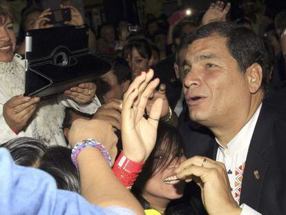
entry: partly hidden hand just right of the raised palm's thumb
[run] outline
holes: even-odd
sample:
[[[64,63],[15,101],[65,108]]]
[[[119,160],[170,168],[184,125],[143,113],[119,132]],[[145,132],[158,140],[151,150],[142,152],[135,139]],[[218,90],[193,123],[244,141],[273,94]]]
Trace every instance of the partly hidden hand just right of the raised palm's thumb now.
[[[163,107],[162,107],[162,112],[160,115],[160,118],[166,118],[169,115],[169,102],[166,97],[166,85],[165,84],[160,84],[159,90],[154,90],[153,95],[149,98],[147,105],[146,105],[146,111],[149,114],[151,111],[151,107],[153,106],[154,102],[158,99],[161,98],[163,100]]]

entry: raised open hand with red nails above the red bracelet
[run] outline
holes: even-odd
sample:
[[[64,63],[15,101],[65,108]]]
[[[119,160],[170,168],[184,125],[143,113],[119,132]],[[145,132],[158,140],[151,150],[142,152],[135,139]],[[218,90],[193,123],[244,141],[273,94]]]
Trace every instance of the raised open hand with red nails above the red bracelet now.
[[[153,150],[162,112],[162,98],[151,106],[149,118],[144,118],[146,104],[160,80],[153,81],[153,70],[142,72],[124,94],[122,109],[122,144],[124,155],[134,162],[145,161]]]

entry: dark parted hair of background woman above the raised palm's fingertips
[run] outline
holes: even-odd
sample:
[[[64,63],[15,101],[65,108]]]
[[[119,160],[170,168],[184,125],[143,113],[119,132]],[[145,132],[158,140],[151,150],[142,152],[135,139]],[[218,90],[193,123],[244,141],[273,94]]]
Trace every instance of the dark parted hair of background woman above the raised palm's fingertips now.
[[[128,55],[132,57],[132,50],[136,48],[139,55],[145,59],[151,59],[152,57],[152,48],[147,39],[143,37],[133,37],[127,40],[126,44],[123,47],[123,56],[127,58]]]

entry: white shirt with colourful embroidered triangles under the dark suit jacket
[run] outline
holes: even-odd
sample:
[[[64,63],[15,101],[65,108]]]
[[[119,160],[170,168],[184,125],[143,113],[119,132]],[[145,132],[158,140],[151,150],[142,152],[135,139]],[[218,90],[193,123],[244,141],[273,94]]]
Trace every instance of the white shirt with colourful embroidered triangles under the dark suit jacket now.
[[[227,148],[223,147],[218,139],[218,153],[216,154],[216,161],[223,162],[227,169],[227,176],[229,177],[229,184],[231,186],[231,194],[236,202],[240,203],[240,193],[242,187],[243,171],[245,170],[245,163],[247,159],[247,152],[249,144],[254,133],[256,122],[261,110],[262,104],[252,116],[252,118],[245,124],[236,136],[227,144]],[[241,205],[242,214],[259,214],[245,204]]]

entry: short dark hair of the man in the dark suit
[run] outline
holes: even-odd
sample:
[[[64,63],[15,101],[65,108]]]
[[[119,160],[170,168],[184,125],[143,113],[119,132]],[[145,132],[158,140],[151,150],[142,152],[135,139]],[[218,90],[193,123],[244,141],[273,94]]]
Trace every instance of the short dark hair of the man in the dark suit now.
[[[262,88],[267,89],[268,66],[267,51],[263,40],[255,32],[229,22],[212,22],[197,28],[191,35],[184,37],[181,48],[189,46],[197,39],[218,35],[227,38],[227,48],[231,56],[238,62],[239,70],[245,73],[251,64],[257,63],[263,70]]]

